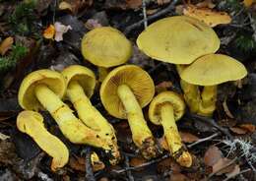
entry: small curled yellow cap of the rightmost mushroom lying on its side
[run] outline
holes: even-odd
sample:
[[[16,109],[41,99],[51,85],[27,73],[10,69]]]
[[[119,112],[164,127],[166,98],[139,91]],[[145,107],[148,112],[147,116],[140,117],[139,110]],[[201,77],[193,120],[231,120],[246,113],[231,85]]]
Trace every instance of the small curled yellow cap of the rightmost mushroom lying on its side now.
[[[150,104],[149,118],[151,122],[160,125],[160,107],[166,103],[173,106],[175,121],[183,116],[186,108],[183,98],[174,91],[162,91],[153,98]]]

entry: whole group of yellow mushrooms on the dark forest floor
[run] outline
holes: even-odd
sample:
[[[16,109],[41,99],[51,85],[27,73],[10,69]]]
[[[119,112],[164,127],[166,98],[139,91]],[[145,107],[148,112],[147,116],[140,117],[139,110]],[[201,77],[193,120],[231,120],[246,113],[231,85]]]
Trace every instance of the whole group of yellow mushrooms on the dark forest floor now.
[[[182,144],[175,122],[183,116],[186,104],[191,112],[212,115],[217,86],[242,79],[246,69],[235,59],[216,54],[220,47],[216,32],[186,16],[152,24],[138,36],[137,45],[151,58],[176,65],[183,97],[174,91],[155,96],[154,81],[145,70],[137,65],[121,65],[132,55],[131,42],[119,30],[103,27],[89,31],[82,39],[84,58],[99,69],[102,105],[111,116],[128,120],[135,146],[145,158],[151,159],[159,155],[160,148],[143,113],[143,108],[149,105],[149,120],[162,126],[168,151],[180,165],[190,167],[192,155]],[[106,70],[110,67],[115,68]],[[199,86],[204,86],[202,92]],[[53,157],[52,170],[67,163],[69,151],[45,129],[39,110],[50,113],[71,143],[106,151],[113,165],[120,161],[115,130],[90,100],[95,87],[95,73],[82,65],[69,66],[61,73],[37,70],[22,82],[18,98],[25,111],[19,114],[17,127]],[[99,160],[96,153],[94,157]]]

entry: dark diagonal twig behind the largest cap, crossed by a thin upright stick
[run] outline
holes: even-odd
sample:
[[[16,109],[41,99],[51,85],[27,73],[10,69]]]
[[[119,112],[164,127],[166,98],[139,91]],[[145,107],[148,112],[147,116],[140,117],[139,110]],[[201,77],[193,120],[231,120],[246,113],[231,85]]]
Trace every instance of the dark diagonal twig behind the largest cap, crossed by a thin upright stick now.
[[[173,10],[175,8],[175,5],[177,2],[178,2],[178,0],[173,0],[166,8],[160,10],[158,13],[156,13],[152,16],[149,16],[148,21],[152,21],[160,16],[167,14],[168,12],[170,12],[171,10]],[[124,30],[124,33],[129,34],[132,30],[135,30],[135,29],[141,27],[144,24],[144,22],[145,22],[144,20],[141,20],[131,26],[128,26],[126,28],[126,30]]]

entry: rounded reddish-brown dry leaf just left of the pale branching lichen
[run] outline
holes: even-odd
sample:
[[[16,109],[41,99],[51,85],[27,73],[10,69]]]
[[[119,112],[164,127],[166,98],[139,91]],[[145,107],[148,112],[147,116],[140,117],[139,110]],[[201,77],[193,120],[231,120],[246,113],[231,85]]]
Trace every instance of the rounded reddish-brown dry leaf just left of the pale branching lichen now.
[[[218,147],[211,146],[204,155],[205,164],[208,166],[213,166],[219,159],[223,158],[223,152],[220,151]]]

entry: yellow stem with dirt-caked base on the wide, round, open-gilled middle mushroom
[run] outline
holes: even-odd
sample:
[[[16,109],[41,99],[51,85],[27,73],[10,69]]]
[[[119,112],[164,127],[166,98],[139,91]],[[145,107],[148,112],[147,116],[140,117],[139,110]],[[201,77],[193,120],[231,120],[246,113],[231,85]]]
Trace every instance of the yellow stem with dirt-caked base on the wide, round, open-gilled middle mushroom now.
[[[133,91],[127,85],[120,85],[117,93],[126,110],[135,145],[140,148],[145,158],[155,157],[157,154],[155,140]]]

